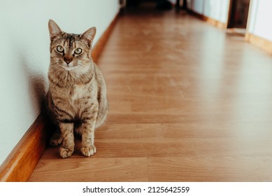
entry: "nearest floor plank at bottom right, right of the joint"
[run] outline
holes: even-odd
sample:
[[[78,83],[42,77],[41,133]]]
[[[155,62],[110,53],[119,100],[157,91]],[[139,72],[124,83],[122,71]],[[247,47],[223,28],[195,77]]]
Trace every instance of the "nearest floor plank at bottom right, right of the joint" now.
[[[270,156],[148,158],[148,176],[150,181],[237,182],[241,176],[246,182],[271,181],[271,161]]]

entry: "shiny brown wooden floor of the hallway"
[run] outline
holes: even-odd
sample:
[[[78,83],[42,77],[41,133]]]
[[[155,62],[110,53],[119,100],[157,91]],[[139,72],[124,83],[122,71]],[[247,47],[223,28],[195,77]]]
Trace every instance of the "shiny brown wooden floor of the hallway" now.
[[[272,181],[271,55],[143,8],[119,18],[99,66],[110,113],[97,153],[48,148],[29,181]]]

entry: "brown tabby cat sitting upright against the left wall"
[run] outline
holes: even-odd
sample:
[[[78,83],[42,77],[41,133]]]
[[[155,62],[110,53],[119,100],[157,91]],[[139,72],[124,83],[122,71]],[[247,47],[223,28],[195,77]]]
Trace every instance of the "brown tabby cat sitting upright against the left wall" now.
[[[59,155],[68,158],[75,148],[76,132],[82,137],[81,153],[94,155],[94,130],[105,121],[108,113],[106,83],[91,57],[96,28],[83,34],[67,34],[53,20],[49,20],[48,27],[48,111],[58,127],[50,145],[62,143]]]

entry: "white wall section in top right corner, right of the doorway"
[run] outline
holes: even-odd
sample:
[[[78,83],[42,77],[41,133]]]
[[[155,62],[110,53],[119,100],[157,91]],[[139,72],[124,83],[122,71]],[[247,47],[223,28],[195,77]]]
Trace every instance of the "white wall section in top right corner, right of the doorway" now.
[[[272,1],[251,0],[248,32],[272,41]]]

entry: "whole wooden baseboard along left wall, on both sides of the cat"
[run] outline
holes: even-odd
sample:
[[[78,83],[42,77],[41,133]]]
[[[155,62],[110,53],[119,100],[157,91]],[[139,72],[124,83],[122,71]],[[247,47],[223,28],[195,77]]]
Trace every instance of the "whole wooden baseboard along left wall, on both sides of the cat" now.
[[[103,46],[106,44],[110,32],[117,21],[117,17],[118,14],[94,45],[92,50],[94,62],[97,62]],[[29,177],[38,164],[38,160],[40,160],[41,155],[45,151],[48,136],[50,135],[49,126],[45,116],[38,116],[31,127],[29,127],[29,130],[24,134],[24,137],[22,137],[10,155],[8,155],[8,158],[0,166],[0,181],[22,182],[29,180]]]

